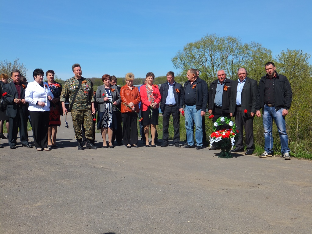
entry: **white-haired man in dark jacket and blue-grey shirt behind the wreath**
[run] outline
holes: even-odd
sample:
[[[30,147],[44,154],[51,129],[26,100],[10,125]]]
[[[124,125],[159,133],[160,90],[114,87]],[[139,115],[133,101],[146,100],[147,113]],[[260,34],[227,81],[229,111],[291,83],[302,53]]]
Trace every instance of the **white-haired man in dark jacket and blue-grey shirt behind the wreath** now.
[[[208,113],[214,115],[212,118],[213,122],[219,117],[231,118],[230,98],[232,80],[227,79],[227,74],[224,70],[219,70],[217,72],[217,77],[217,80],[211,82],[208,95]],[[209,149],[215,150],[217,147],[211,145]]]

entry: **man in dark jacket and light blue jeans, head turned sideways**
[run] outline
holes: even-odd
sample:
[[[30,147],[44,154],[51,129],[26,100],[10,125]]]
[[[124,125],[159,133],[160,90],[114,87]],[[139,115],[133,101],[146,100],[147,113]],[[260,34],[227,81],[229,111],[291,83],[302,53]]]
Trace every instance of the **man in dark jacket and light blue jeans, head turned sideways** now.
[[[183,98],[185,106],[185,128],[188,144],[183,148],[193,148],[193,123],[195,123],[196,149],[202,149],[202,116],[205,115],[208,100],[208,86],[205,80],[197,76],[195,69],[188,70],[188,81],[183,87]]]

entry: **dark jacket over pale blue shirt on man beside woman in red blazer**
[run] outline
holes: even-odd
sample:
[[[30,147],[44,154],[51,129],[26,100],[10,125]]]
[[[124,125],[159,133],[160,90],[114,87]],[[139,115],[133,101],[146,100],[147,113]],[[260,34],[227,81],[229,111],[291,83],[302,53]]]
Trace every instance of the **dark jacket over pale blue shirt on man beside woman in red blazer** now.
[[[178,91],[176,90],[178,89]],[[163,83],[160,88],[159,88],[159,92],[161,95],[161,102],[160,102],[160,110],[163,112],[164,111],[164,107],[166,104],[166,99],[168,96],[168,90],[169,90],[169,85],[168,82]],[[181,84],[177,83],[176,81],[174,81],[174,85],[173,85],[173,95],[174,95],[174,100],[176,102],[176,106],[178,109],[178,112],[181,108],[183,108],[183,87]]]

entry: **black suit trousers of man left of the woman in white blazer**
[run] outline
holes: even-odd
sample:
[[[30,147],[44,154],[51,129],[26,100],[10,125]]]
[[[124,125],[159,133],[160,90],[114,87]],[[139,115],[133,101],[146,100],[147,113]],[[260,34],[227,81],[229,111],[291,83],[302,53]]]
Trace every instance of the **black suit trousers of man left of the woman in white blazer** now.
[[[28,116],[25,115],[20,107],[17,109],[17,114],[14,118],[9,117],[9,146],[16,145],[18,128],[20,129],[21,143],[28,145],[27,121]]]

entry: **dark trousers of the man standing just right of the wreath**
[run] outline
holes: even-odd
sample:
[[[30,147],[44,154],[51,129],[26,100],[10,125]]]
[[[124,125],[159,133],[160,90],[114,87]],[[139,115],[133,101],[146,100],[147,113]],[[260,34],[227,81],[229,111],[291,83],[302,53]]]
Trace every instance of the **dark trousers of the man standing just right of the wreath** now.
[[[236,142],[236,148],[244,149],[244,128],[246,134],[246,145],[247,150],[254,150],[254,135],[253,135],[253,117],[246,118],[244,116],[243,109],[240,107],[236,107],[235,113],[235,124],[236,130],[239,131],[240,136]]]

